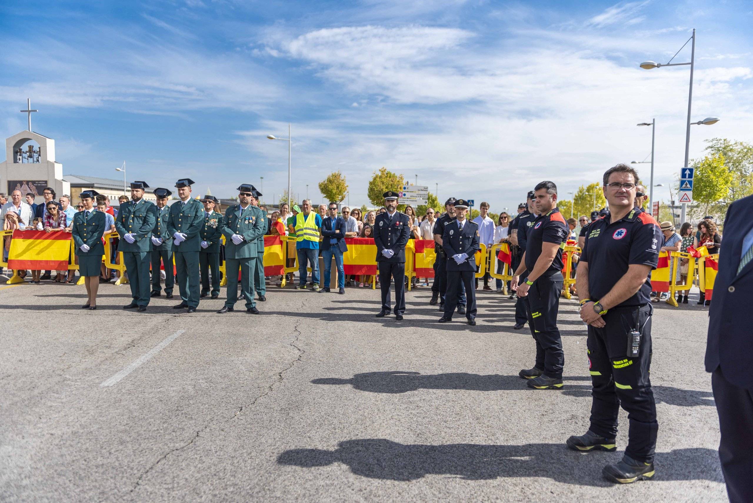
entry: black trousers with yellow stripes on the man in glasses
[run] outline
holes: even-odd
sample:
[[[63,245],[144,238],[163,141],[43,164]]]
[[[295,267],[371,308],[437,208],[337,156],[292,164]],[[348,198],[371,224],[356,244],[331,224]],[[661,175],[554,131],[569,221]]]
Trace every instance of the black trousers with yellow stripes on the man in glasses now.
[[[614,438],[621,405],[630,423],[625,454],[640,462],[653,462],[659,425],[649,379],[651,305],[609,309],[603,319],[604,327],[588,327],[586,343],[593,383],[590,430]],[[641,327],[638,358],[628,358],[630,331]]]

